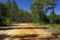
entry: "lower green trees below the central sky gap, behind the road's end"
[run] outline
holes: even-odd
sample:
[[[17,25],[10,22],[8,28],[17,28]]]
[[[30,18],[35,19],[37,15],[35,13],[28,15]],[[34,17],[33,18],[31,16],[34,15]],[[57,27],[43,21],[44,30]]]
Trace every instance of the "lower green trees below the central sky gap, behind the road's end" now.
[[[29,23],[31,21],[31,14],[23,9],[20,9],[18,13],[18,22]]]

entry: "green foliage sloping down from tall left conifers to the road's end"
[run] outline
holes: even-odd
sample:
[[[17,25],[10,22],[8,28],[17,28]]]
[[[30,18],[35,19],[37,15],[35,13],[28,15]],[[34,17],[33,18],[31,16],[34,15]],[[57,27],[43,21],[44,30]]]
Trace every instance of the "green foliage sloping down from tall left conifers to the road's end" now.
[[[12,22],[30,22],[31,15],[29,12],[19,9],[15,0],[8,0],[6,3],[8,7],[8,18]]]

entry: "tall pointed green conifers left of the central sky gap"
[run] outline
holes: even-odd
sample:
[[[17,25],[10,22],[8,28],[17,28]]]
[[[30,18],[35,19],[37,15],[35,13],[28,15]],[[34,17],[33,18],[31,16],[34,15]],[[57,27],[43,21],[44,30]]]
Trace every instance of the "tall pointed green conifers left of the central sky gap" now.
[[[13,22],[17,22],[17,15],[18,15],[18,7],[15,0],[7,0],[6,6],[8,7],[8,18],[11,19]]]

